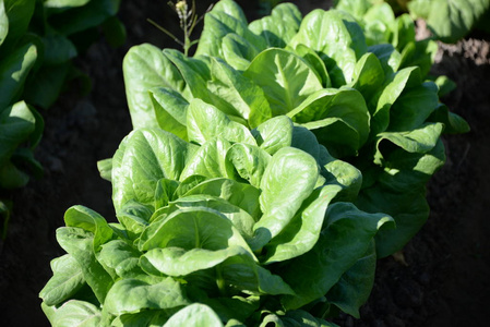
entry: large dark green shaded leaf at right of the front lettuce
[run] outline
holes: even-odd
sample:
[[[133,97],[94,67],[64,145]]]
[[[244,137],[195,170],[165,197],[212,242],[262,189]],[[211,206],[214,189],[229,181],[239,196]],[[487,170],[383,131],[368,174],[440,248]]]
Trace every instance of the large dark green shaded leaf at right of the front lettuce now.
[[[298,308],[328,292],[342,275],[366,254],[384,225],[393,226],[393,219],[385,214],[367,214],[351,203],[328,206],[315,246],[294,258],[287,267],[282,267],[280,276],[296,292],[295,296],[283,298],[285,307]]]

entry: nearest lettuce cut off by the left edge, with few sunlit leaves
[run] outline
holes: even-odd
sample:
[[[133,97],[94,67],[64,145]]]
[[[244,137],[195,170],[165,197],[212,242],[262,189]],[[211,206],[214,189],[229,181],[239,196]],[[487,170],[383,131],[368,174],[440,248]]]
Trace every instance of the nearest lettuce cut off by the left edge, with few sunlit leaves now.
[[[43,118],[22,96],[39,58],[27,34],[34,4],[0,0],[0,190],[21,187],[29,174],[43,172],[33,155],[43,134]],[[4,203],[0,206],[7,208]]]

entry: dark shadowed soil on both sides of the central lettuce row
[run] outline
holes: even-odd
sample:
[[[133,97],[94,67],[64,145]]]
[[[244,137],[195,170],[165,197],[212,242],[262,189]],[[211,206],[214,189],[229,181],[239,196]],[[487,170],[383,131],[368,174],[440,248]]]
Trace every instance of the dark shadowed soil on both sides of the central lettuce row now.
[[[2,326],[49,326],[38,292],[50,278],[49,262],[63,251],[56,229],[63,213],[85,205],[113,220],[110,184],[99,178],[97,160],[111,157],[131,131],[122,80],[122,58],[132,45],[177,47],[146,23],[150,17],[178,33],[166,1],[121,1],[128,40],[113,49],[101,38],[77,60],[93,81],[88,96],[76,87],[44,112],[46,128],[36,158],[43,179],[11,194],[13,216],[0,241]],[[198,1],[203,12],[210,1]],[[249,19],[252,1],[238,1]],[[330,1],[296,1],[303,12]],[[487,326],[490,293],[490,38],[473,35],[441,45],[434,74],[445,74],[457,89],[443,101],[471,126],[465,135],[444,136],[446,165],[428,185],[431,215],[406,245],[403,257],[379,261],[374,288],[361,319],[340,316],[340,326]],[[112,217],[112,218],[111,218]],[[404,259],[403,259],[404,258]]]

